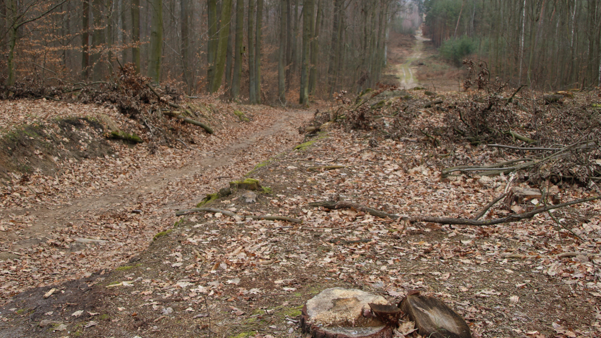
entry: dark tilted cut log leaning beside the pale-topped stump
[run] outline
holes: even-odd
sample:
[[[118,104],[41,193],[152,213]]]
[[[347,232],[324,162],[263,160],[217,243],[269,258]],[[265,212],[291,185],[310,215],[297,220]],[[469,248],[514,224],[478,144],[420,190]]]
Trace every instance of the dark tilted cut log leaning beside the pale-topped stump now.
[[[465,320],[438,298],[413,291],[403,298],[398,307],[415,322],[422,337],[471,338]]]

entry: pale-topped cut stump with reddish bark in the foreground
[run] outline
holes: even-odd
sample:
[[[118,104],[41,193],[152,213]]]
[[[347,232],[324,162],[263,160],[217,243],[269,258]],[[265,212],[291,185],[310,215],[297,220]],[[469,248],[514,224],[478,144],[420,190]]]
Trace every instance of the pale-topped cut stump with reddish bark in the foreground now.
[[[302,331],[316,338],[392,338],[388,325],[364,316],[370,303],[387,304],[382,296],[357,289],[325,289],[303,307]]]

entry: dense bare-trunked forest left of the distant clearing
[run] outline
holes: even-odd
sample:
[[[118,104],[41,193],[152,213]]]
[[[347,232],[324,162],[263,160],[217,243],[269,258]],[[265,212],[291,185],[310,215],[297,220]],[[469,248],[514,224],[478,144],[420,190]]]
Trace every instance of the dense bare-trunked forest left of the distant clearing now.
[[[4,84],[136,72],[189,96],[307,103],[373,87],[404,4],[392,0],[7,0]]]

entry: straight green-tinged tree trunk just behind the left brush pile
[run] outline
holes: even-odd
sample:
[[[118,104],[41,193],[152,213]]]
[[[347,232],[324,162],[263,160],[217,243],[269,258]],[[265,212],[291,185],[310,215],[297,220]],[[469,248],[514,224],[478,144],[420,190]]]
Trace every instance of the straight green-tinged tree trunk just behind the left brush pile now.
[[[163,52],[163,0],[149,1],[150,19],[150,51],[148,51],[148,77],[155,84],[160,81],[160,59]]]

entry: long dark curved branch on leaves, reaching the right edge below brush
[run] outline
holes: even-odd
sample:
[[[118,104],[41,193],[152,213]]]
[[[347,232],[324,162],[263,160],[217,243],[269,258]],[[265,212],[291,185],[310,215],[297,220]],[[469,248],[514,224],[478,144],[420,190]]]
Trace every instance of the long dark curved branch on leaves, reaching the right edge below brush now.
[[[580,200],[569,201],[566,203],[557,204],[555,206],[547,206],[542,207],[540,209],[535,209],[530,212],[523,212],[522,214],[509,215],[503,218],[497,218],[496,220],[489,221],[478,221],[478,220],[469,220],[468,218],[441,218],[441,217],[411,217],[408,218],[409,223],[416,222],[430,222],[430,223],[438,223],[438,224],[453,224],[453,225],[463,225],[463,226],[493,226],[495,224],[508,223],[514,221],[525,220],[526,218],[532,218],[534,215],[542,214],[543,212],[547,212],[548,210],[558,209],[564,206],[570,206],[573,204],[584,203],[588,201],[594,201],[601,198],[601,196],[593,196],[588,198],[581,198]]]

